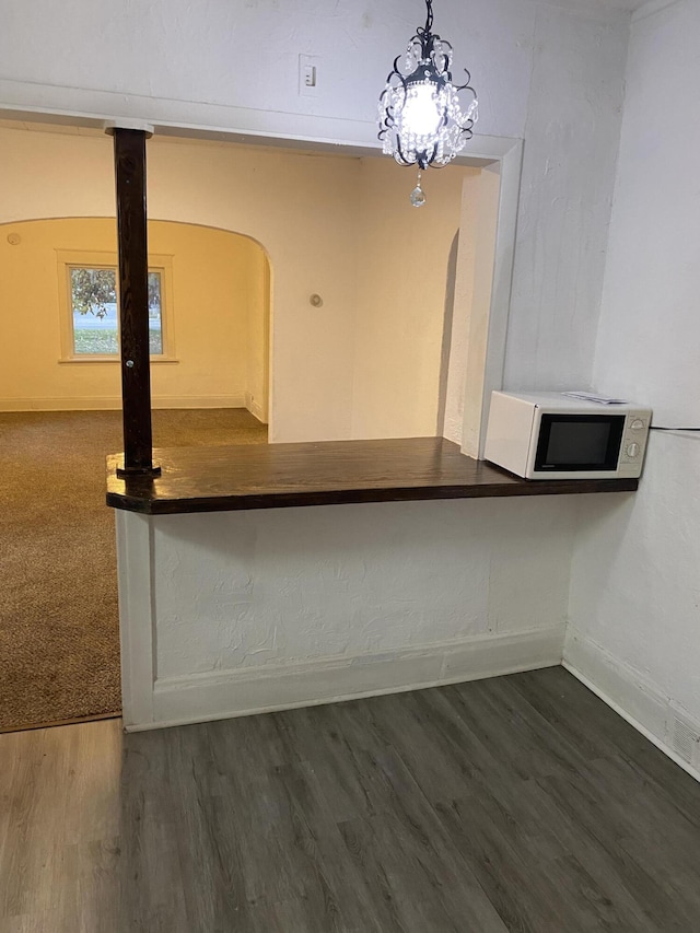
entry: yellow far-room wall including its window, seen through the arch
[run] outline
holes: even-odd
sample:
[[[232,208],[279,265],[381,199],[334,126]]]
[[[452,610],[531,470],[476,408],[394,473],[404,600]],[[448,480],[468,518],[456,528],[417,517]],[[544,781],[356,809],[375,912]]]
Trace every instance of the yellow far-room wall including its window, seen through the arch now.
[[[118,408],[116,295],[108,293],[114,219],[2,224],[0,241],[0,327],[8,334],[0,409]],[[262,247],[226,230],[154,220],[149,252],[161,337],[151,358],[153,407],[248,408],[267,422],[270,271]],[[98,271],[102,290],[77,291],[81,270]]]

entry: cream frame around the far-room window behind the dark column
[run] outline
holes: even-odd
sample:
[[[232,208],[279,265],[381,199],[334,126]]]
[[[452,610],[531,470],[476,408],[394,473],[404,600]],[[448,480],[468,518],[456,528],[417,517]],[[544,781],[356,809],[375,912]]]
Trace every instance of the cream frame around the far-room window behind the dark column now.
[[[119,306],[119,275],[116,253],[86,249],[57,249],[58,265],[58,307],[60,318],[60,358],[59,363],[119,363],[117,353],[75,353],[73,331],[73,301],[70,270],[114,269]],[[161,338],[162,353],[151,353],[151,363],[177,363],[175,355],[175,333],[173,325],[173,256],[149,254],[149,272],[161,273]],[[117,315],[117,330],[119,318]]]

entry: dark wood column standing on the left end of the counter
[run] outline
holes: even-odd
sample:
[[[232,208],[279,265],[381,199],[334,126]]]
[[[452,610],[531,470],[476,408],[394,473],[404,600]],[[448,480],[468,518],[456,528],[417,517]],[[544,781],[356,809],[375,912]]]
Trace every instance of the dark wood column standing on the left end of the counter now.
[[[145,130],[115,127],[124,475],[156,476],[151,431]]]

